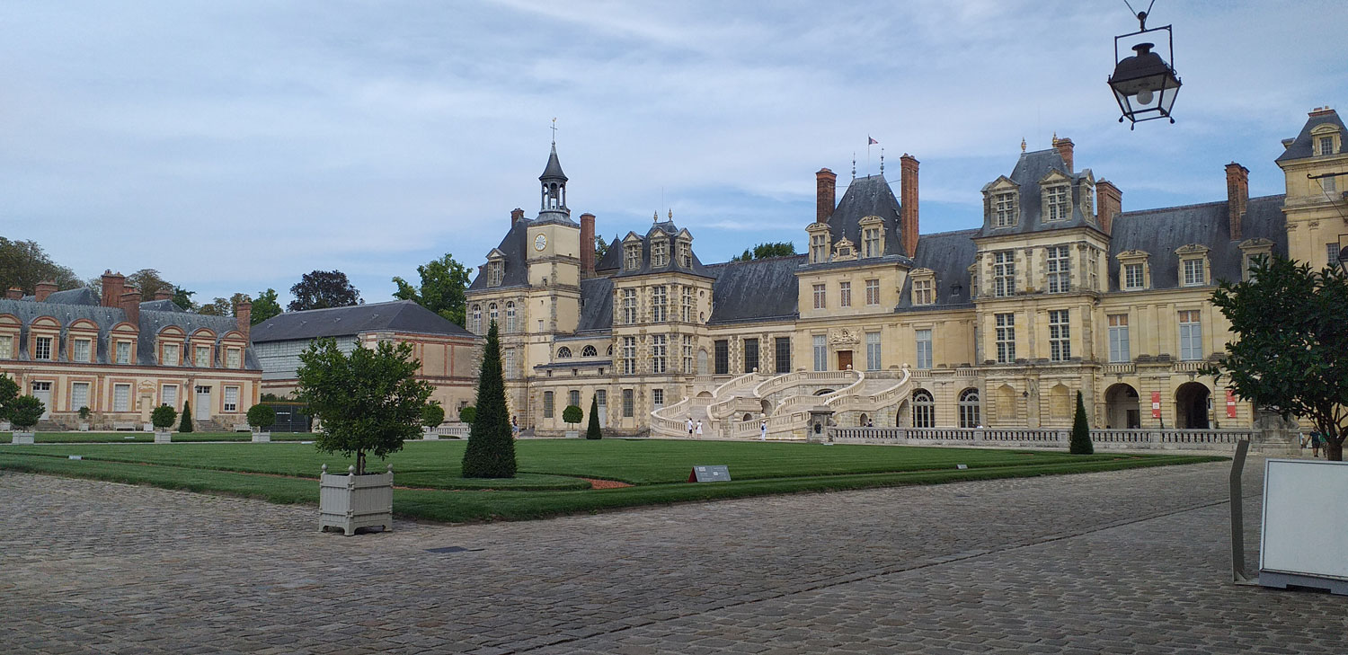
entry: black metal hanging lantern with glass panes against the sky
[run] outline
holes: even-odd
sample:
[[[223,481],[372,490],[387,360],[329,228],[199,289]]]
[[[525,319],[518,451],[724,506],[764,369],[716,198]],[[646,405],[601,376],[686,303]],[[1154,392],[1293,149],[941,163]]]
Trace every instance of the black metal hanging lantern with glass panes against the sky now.
[[[1147,12],[1144,11],[1138,12],[1138,23],[1142,30],[1113,38],[1115,66],[1113,74],[1109,75],[1109,88],[1113,89],[1119,111],[1123,112],[1119,123],[1123,123],[1123,119],[1131,120],[1130,129],[1144,120],[1170,119],[1170,123],[1174,123],[1170,108],[1174,106],[1175,96],[1180,94],[1180,78],[1175,77],[1175,69],[1166,63],[1159,54],[1151,51],[1155,47],[1154,43],[1138,43],[1132,46],[1132,51],[1136,54],[1119,59],[1120,39],[1165,31],[1169,55],[1174,61],[1174,34],[1170,31],[1170,26],[1147,30]]]

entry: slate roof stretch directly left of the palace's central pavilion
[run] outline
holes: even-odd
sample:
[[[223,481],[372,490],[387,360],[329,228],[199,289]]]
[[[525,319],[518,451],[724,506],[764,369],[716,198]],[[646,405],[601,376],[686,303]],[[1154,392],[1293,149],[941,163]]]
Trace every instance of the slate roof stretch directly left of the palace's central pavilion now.
[[[798,315],[795,271],[807,255],[727,261],[706,267],[712,286],[709,325],[791,319]]]

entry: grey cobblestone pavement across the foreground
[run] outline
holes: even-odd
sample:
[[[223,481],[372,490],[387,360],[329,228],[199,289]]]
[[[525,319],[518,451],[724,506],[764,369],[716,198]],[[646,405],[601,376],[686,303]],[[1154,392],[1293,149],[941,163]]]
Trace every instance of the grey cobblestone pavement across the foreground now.
[[[319,534],[309,507],[0,473],[0,644],[7,654],[1344,652],[1348,598],[1228,582],[1228,466],[528,523],[399,522],[353,538]],[[1247,465],[1251,550],[1260,470]],[[446,546],[466,550],[427,551]]]

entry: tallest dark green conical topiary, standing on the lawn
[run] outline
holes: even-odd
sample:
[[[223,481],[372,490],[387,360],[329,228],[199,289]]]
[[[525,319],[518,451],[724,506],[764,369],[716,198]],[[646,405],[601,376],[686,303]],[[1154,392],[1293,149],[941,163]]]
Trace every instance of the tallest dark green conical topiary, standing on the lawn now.
[[[515,477],[515,437],[506,408],[506,380],[496,321],[487,330],[483,371],[477,377],[477,412],[464,450],[464,477]]]

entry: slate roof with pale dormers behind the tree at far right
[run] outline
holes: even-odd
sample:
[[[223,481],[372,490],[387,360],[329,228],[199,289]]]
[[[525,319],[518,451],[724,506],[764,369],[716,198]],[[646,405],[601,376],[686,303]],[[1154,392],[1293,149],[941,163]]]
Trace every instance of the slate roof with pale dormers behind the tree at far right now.
[[[1124,251],[1143,251],[1150,256],[1150,288],[1180,286],[1180,257],[1175,249],[1188,244],[1209,248],[1208,260],[1212,279],[1240,280],[1244,253],[1240,243],[1250,239],[1273,241],[1273,252],[1287,256],[1287,221],[1282,213],[1285,195],[1250,198],[1240,222],[1240,241],[1231,240],[1227,201],[1178,208],[1124,212],[1115,217],[1113,239],[1109,243],[1109,291],[1119,291],[1117,255]]]

